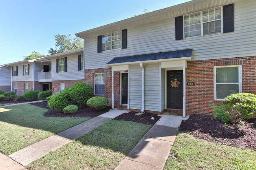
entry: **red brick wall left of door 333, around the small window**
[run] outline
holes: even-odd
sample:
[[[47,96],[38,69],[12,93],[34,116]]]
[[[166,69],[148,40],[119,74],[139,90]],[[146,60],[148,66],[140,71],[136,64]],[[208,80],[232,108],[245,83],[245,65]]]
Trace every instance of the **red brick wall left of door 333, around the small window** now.
[[[109,101],[108,106],[112,104],[112,71],[111,68],[102,68],[102,69],[85,69],[84,70],[84,79],[89,85],[93,86],[94,90],[94,75],[95,73],[104,73],[105,74],[105,95]],[[114,87],[114,106],[119,107],[120,100],[120,73],[118,71],[114,72],[114,84],[118,86]]]

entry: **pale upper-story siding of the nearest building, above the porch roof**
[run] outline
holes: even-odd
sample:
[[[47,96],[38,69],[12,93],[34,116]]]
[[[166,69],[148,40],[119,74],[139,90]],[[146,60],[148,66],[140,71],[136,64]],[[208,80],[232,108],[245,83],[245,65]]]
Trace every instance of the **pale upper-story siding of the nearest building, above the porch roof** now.
[[[97,53],[97,37],[85,38],[85,69],[105,68],[114,57],[193,48],[191,60],[254,56],[255,0],[234,3],[234,32],[175,40],[175,18],[127,28],[127,49]]]

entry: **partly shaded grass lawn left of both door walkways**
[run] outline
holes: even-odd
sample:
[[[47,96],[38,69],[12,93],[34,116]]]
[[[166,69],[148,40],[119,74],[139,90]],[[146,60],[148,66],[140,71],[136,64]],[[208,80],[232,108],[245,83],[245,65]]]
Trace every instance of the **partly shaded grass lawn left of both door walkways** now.
[[[9,155],[90,118],[44,117],[30,104],[0,108],[0,152]]]

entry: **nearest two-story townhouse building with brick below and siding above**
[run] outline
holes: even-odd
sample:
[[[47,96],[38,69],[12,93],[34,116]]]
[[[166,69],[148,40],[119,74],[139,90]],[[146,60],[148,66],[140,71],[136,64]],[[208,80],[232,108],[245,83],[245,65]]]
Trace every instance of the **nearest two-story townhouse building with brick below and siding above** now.
[[[76,33],[85,81],[113,107],[212,112],[256,93],[255,0],[193,0]]]

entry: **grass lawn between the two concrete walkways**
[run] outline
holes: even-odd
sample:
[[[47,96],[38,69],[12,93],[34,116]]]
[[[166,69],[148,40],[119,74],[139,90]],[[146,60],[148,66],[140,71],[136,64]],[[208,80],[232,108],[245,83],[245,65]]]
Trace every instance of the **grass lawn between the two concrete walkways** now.
[[[111,120],[32,162],[29,170],[112,170],[151,125]]]

